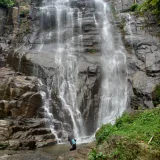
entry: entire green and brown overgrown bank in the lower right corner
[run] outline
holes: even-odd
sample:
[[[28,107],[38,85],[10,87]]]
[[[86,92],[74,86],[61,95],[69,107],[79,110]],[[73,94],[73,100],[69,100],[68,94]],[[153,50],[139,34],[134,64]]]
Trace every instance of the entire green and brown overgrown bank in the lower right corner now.
[[[103,125],[96,133],[96,141],[89,160],[95,160],[100,153],[109,160],[159,159],[160,108],[124,113],[114,125]]]

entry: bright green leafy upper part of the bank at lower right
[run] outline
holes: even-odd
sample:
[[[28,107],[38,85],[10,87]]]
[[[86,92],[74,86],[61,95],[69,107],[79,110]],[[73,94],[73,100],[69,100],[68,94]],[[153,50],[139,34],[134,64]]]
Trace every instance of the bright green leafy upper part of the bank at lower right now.
[[[134,114],[124,113],[112,126],[103,125],[96,133],[97,143],[108,140],[111,136],[121,136],[131,141],[148,143],[160,148],[160,108],[145,110]]]

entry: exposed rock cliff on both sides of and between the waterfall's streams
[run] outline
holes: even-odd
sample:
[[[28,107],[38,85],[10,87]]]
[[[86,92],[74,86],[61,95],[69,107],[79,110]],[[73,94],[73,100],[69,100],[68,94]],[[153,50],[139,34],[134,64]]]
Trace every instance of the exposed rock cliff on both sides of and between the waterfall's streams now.
[[[64,115],[57,87],[51,84],[51,79],[59,75],[59,70],[51,61],[50,52],[37,54],[35,50],[41,46],[42,40],[46,46],[50,41],[46,33],[41,34],[39,6],[42,1],[16,2],[17,5],[9,10],[0,8],[0,144],[2,148],[15,150],[55,144],[55,135],[50,129],[51,121],[59,138],[65,138],[66,131],[71,132],[73,125],[66,116],[67,111]],[[160,83],[159,26],[151,18],[146,23],[146,17],[127,12],[132,4],[131,0],[114,0],[111,4],[115,7],[115,28],[122,35],[127,50],[128,109],[152,108],[153,92]],[[85,124],[89,126],[87,132],[90,133],[96,129],[95,125],[90,124],[96,124],[100,103],[101,42],[94,17],[91,16],[93,11],[90,3],[81,0],[72,1],[71,5],[78,6],[80,10],[87,5],[90,8],[83,11],[86,17],[82,22],[84,46],[77,62],[78,106],[83,111]],[[48,19],[43,18],[46,20],[43,27],[47,28]],[[54,21],[52,19],[50,24],[53,27]],[[75,32],[79,32],[76,27]],[[55,34],[51,33],[52,41],[55,41]],[[48,94],[48,84],[52,85],[52,101],[49,102],[55,118],[52,120],[45,116],[47,111],[44,109],[42,93]]]

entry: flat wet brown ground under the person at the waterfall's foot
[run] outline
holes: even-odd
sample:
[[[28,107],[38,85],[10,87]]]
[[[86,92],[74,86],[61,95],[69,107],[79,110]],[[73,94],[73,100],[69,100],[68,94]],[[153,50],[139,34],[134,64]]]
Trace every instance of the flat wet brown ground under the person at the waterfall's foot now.
[[[95,142],[81,144],[77,150],[69,151],[69,144],[55,145],[36,149],[34,151],[0,151],[1,160],[88,160],[88,153],[95,147]]]

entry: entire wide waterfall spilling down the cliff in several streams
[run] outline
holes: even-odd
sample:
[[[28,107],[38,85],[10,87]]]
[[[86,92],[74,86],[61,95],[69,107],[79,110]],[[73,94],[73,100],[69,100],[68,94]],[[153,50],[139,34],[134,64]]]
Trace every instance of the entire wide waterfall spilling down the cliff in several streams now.
[[[86,124],[95,126],[91,127],[94,134],[102,124],[114,123],[124,112],[127,103],[125,50],[120,37],[114,34],[109,5],[103,0],[43,0],[39,10],[40,44],[35,46],[35,50],[38,55],[49,57],[46,63],[50,63],[52,68],[49,68],[52,75],[47,77],[48,93],[42,93],[46,114],[49,119],[69,124],[78,140],[85,139],[84,137],[91,135]],[[89,52],[88,55],[86,52]],[[100,92],[98,111],[92,106],[92,102],[99,96],[99,92],[92,95],[92,89],[86,84],[85,94],[78,97],[78,92],[83,93],[78,88],[80,58],[83,57],[90,63],[87,71],[81,73],[88,74],[85,79],[92,81],[92,77],[97,74],[97,69],[96,72],[89,71],[94,66],[90,58],[92,55],[102,70],[102,84],[97,89]],[[97,57],[101,57],[100,60]],[[86,100],[87,94],[93,98]],[[52,108],[54,95],[58,99],[58,109]],[[87,106],[83,106],[86,103]],[[86,110],[94,110],[98,119],[95,119],[96,116],[87,117],[90,114]],[[59,114],[58,118],[56,114]],[[51,128],[55,132],[53,125]]]

